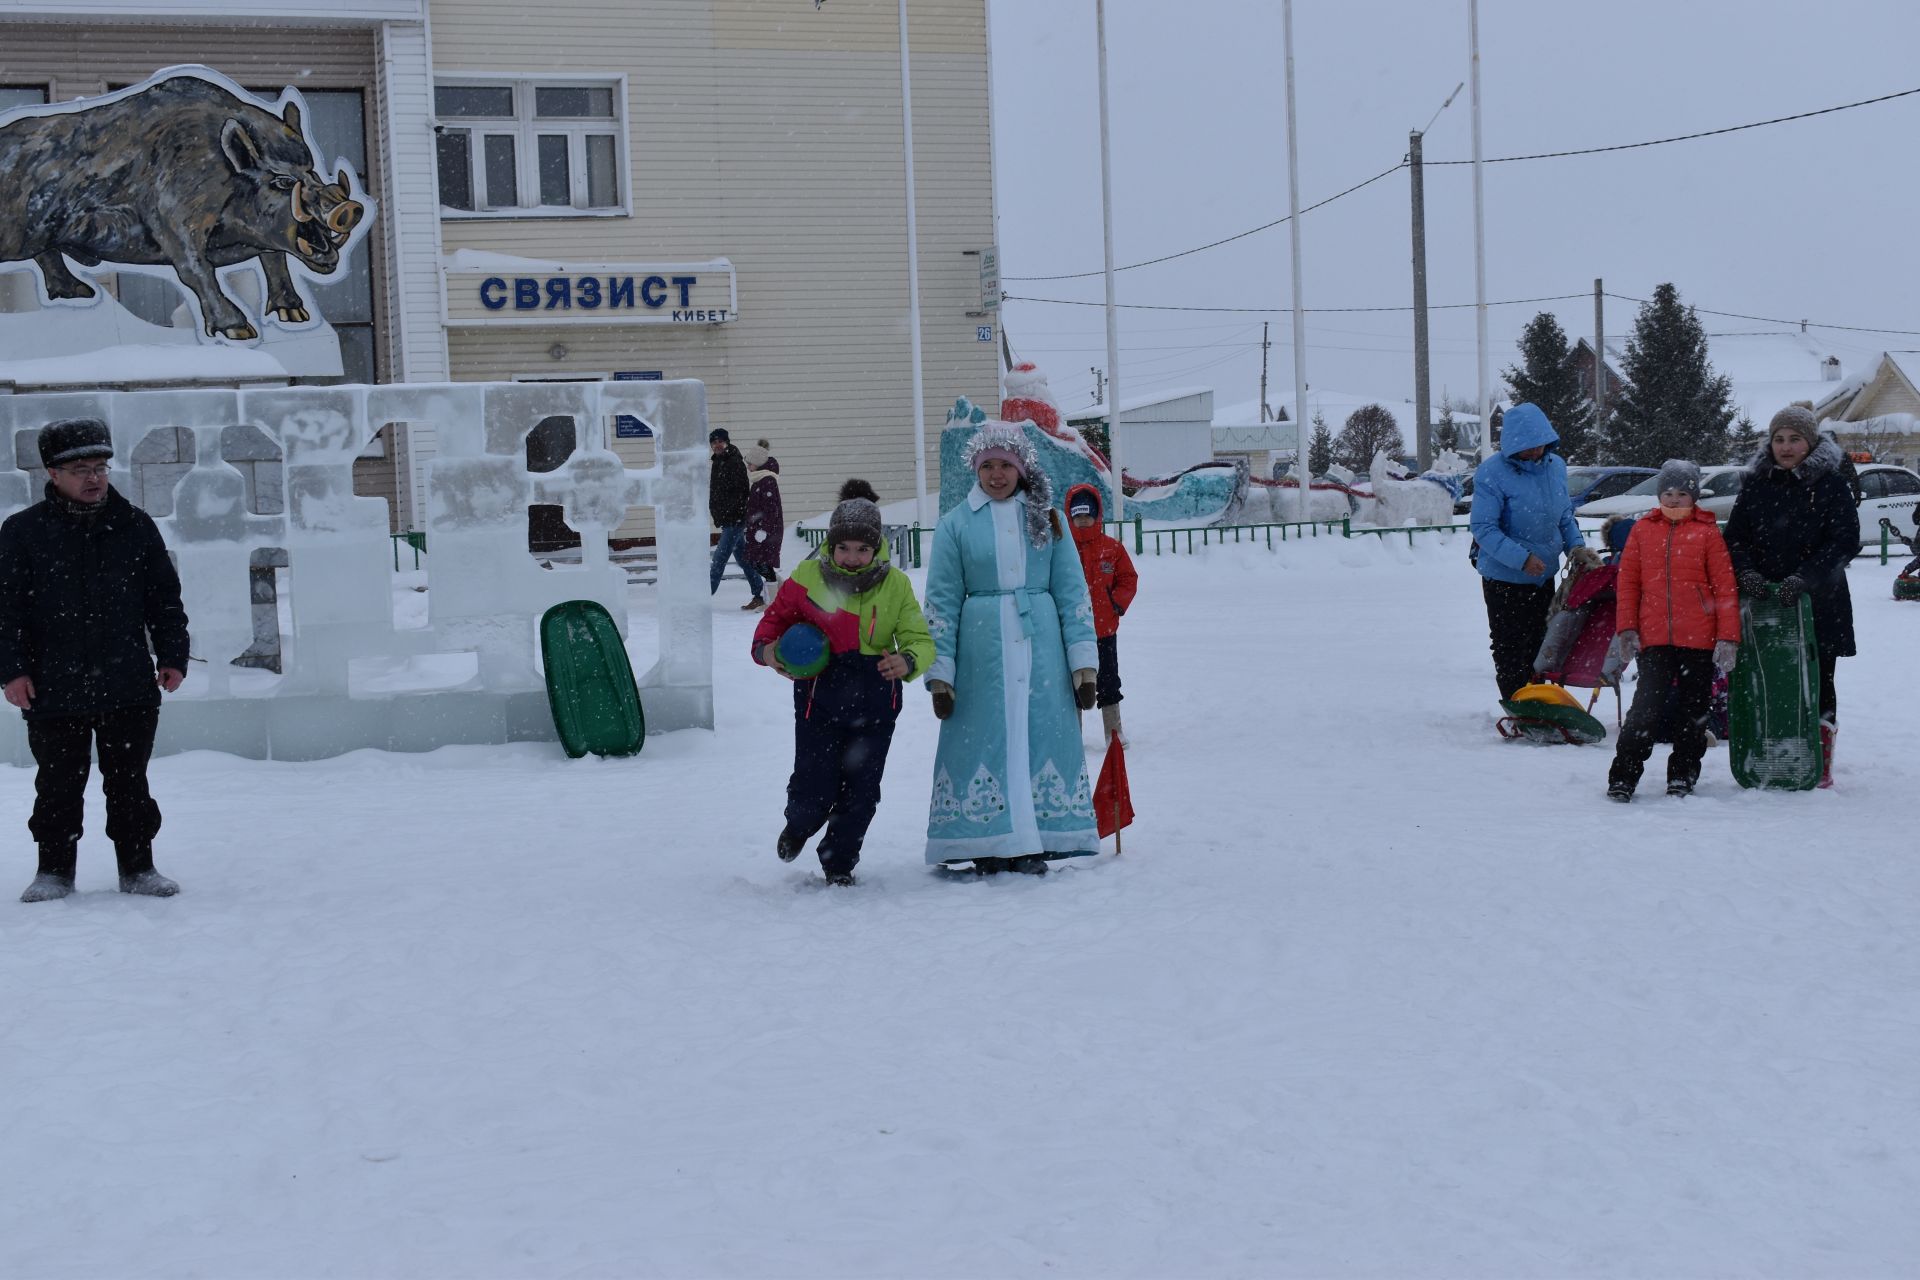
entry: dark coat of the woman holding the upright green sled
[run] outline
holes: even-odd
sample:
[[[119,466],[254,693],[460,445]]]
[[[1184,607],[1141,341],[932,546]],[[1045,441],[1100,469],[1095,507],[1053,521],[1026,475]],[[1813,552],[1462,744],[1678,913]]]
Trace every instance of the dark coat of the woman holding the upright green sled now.
[[[1755,570],[1766,581],[1805,581],[1820,656],[1849,658],[1855,647],[1847,564],[1860,553],[1860,514],[1839,462],[1832,439],[1814,445],[1793,470],[1774,466],[1772,447],[1761,445],[1726,518],[1726,551],[1736,574]]]

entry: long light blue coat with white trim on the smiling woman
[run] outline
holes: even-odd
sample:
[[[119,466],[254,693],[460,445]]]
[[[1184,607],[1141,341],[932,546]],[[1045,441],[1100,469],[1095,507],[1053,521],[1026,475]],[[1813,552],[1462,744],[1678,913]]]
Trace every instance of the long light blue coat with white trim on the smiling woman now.
[[[927,862],[1100,852],[1073,672],[1098,664],[1073,539],[1035,547],[1027,497],[975,484],[941,516],[927,570],[927,679],[954,687],[941,722]]]

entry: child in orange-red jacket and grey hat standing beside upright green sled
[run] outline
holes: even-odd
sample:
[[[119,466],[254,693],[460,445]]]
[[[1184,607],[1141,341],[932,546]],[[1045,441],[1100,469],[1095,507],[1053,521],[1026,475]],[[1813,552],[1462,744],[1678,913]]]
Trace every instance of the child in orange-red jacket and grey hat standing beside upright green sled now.
[[[1607,796],[1634,798],[1663,720],[1674,748],[1667,794],[1692,794],[1707,754],[1715,670],[1734,670],[1740,589],[1720,522],[1695,507],[1699,466],[1672,459],[1659,474],[1661,505],[1634,522],[1615,587],[1622,660],[1640,656],[1640,687],[1607,771]]]

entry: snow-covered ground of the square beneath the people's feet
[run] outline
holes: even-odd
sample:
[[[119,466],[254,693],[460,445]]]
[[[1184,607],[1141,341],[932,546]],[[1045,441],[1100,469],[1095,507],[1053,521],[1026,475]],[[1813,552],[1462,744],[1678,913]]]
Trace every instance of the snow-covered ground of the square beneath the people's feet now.
[[[83,892],[12,904],[0,770],[0,1274],[1920,1270],[1891,566],[1832,793],[1716,750],[1630,808],[1494,735],[1457,541],[1140,572],[1140,821],[1044,879],[922,867],[918,689],[860,887],[781,865],[739,583],[720,729],[636,760],[156,762],[171,902],[96,798]]]

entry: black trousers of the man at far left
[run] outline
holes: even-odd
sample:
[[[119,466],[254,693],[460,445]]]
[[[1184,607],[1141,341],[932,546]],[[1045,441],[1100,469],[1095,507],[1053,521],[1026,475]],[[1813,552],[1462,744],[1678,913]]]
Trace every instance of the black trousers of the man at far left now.
[[[113,841],[119,873],[154,869],[159,806],[146,789],[146,762],[154,754],[157,727],[157,706],[27,722],[27,747],[40,766],[33,777],[33,818],[27,819],[40,844],[40,873],[73,879],[96,747],[100,789],[108,796],[108,839]]]

